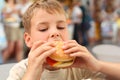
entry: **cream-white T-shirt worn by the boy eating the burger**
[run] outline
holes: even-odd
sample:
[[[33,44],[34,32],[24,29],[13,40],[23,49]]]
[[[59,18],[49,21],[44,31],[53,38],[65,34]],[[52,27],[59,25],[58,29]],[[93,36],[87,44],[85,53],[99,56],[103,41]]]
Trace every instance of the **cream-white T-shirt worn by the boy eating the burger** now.
[[[27,69],[27,65],[28,60],[25,59],[13,66],[9,72],[7,80],[22,80]],[[40,80],[105,80],[104,77],[105,76],[101,73],[91,72],[85,69],[67,68],[56,71],[44,70]]]

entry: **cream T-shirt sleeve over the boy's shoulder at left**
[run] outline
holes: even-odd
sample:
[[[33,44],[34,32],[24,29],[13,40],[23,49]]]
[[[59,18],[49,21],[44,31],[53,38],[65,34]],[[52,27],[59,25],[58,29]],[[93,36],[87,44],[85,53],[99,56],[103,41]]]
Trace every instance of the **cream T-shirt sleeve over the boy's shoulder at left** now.
[[[9,76],[7,80],[21,80],[27,69],[27,62],[28,60],[25,59],[15,64],[9,71]]]

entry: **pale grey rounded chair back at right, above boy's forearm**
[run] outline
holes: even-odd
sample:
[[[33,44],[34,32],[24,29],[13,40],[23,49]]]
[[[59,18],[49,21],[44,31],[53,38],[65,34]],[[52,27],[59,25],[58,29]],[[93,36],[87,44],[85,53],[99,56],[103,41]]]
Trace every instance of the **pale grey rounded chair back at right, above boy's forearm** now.
[[[112,44],[96,45],[92,49],[97,59],[102,61],[120,62],[120,47]]]

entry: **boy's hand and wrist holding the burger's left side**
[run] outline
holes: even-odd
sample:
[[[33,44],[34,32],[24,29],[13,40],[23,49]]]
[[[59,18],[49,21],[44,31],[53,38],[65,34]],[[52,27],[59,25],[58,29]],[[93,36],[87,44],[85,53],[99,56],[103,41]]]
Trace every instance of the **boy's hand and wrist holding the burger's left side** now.
[[[24,77],[29,77],[27,80],[38,80],[44,69],[43,64],[45,63],[45,59],[55,51],[52,42],[34,42],[28,55],[28,68]]]

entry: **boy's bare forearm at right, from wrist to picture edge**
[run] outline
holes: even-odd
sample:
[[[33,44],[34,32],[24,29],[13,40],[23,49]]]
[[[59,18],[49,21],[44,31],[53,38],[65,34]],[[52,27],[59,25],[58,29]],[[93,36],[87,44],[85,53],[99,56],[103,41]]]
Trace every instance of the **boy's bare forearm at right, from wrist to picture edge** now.
[[[120,64],[100,61],[100,72],[120,79]]]

